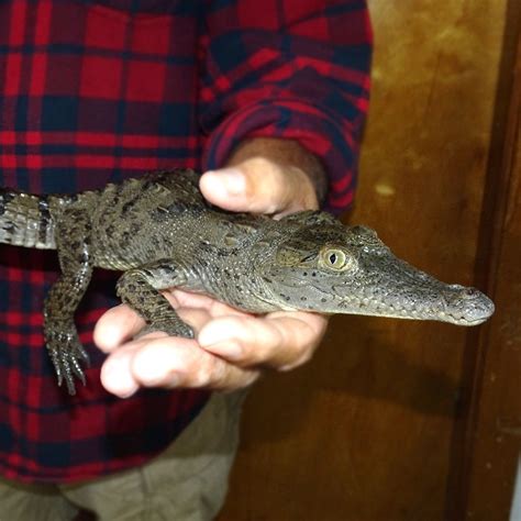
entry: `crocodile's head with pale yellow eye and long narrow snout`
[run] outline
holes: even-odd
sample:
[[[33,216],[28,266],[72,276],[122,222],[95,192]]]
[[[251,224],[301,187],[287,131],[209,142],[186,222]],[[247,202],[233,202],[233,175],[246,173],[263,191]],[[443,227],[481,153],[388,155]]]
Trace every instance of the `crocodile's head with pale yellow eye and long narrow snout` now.
[[[479,324],[494,313],[484,293],[414,268],[368,228],[346,228],[321,212],[285,220],[292,223],[291,236],[275,241],[259,265],[265,291],[282,309],[458,325]]]

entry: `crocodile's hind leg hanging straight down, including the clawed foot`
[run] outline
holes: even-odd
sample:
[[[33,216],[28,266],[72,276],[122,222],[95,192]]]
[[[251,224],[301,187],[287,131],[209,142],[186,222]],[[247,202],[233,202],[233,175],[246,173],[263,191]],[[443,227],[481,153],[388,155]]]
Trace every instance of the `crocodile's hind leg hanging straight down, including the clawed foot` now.
[[[85,385],[80,362],[89,363],[78,337],[74,314],[92,275],[90,219],[80,210],[67,211],[65,217],[56,233],[62,276],[45,300],[44,334],[58,386],[65,379],[69,395],[75,395],[74,377]]]

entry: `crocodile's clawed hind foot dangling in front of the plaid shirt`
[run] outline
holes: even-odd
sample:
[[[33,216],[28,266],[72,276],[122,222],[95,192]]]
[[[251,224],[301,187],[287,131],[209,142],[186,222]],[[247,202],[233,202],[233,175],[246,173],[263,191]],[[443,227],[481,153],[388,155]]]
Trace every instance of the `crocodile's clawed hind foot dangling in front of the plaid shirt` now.
[[[76,395],[75,376],[84,386],[86,384],[80,362],[89,365],[89,355],[78,339],[76,328],[53,329],[46,332],[45,339],[58,378],[58,386],[62,386],[65,380],[69,395]]]

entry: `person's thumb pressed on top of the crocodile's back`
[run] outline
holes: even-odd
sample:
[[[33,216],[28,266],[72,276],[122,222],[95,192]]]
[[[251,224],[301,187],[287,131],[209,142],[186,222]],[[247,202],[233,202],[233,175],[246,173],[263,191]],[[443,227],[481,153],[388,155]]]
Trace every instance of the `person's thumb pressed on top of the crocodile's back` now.
[[[282,214],[318,207],[314,188],[301,170],[282,170],[265,159],[207,171],[200,188],[208,201],[235,212]]]

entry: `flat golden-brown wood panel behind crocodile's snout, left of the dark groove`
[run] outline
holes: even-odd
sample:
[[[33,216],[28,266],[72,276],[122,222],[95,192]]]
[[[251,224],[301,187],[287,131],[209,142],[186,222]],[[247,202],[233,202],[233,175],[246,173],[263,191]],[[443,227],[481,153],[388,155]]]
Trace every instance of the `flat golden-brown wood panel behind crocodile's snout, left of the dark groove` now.
[[[473,282],[506,0],[370,1],[374,90],[352,222]],[[466,330],[336,317],[252,392],[220,519],[444,519]]]

